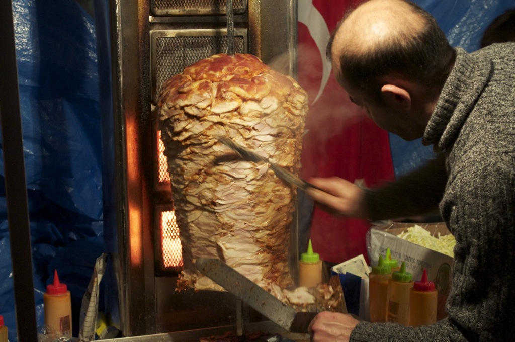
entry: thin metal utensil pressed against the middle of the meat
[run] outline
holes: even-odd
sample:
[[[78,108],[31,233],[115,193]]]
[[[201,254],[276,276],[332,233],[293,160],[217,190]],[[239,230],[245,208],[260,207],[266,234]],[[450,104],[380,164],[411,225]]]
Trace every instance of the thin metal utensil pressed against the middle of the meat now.
[[[243,159],[247,161],[254,163],[264,162],[270,164],[270,169],[274,172],[274,174],[276,174],[278,178],[282,179],[288,184],[295,185],[303,191],[306,191],[308,187],[313,187],[314,189],[321,190],[319,187],[311,183],[308,183],[305,180],[301,179],[299,176],[289,172],[286,168],[282,167],[281,165],[272,163],[265,157],[258,155],[258,153],[252,152],[248,148],[245,148],[242,145],[235,143],[234,141],[232,141],[229,138],[226,138],[225,136],[220,136],[217,140],[220,143],[236,151],[238,155],[240,155]]]

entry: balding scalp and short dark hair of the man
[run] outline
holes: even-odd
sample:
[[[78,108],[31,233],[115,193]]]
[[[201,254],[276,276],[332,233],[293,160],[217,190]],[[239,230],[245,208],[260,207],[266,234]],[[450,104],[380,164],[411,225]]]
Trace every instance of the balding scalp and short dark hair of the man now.
[[[454,55],[433,16],[407,0],[363,3],[338,24],[328,45],[338,81],[367,91],[390,76],[442,86]]]

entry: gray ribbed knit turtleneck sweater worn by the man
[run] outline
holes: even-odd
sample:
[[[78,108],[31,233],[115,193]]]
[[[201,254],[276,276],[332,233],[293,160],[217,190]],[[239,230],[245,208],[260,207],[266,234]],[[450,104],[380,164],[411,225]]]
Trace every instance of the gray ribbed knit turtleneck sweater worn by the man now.
[[[418,328],[360,322],[351,341],[515,338],[515,43],[456,50],[423,138],[447,156],[439,209],[456,238],[449,316]],[[372,210],[377,194],[367,194]]]

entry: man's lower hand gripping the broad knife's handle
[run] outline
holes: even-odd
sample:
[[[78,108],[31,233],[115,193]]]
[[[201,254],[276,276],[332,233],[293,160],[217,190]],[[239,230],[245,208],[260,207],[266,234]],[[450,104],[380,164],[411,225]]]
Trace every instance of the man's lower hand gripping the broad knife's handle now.
[[[311,341],[348,341],[358,321],[351,315],[322,311],[313,318],[308,331]]]

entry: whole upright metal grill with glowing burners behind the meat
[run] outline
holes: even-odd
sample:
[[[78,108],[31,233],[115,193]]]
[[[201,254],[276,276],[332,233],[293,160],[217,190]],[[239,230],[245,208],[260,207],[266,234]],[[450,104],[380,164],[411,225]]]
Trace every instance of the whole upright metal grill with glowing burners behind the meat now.
[[[112,90],[112,98],[100,103],[112,112],[109,119],[102,118],[103,144],[112,153],[104,158],[109,208],[104,223],[106,236],[116,245],[112,255],[122,333],[231,326],[242,303],[236,305],[230,293],[175,291],[181,246],[156,110],[169,77],[200,59],[227,53],[226,1],[106,3],[112,32],[98,35],[100,45],[111,39],[104,43],[112,60],[112,71],[99,70],[104,79],[112,77],[112,87],[101,89],[102,94]],[[280,59],[283,63],[274,69],[295,77],[296,0],[233,0],[233,18],[236,53],[258,56],[267,64]],[[296,239],[294,232],[292,241]],[[292,260],[297,257],[294,248]],[[245,324],[262,319],[248,307],[243,312]]]

